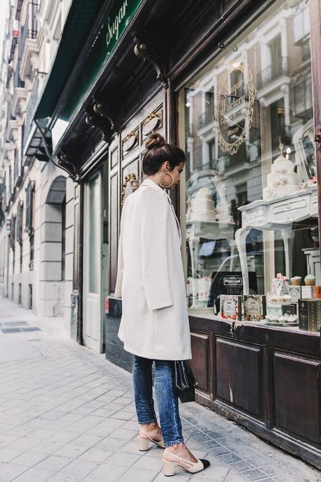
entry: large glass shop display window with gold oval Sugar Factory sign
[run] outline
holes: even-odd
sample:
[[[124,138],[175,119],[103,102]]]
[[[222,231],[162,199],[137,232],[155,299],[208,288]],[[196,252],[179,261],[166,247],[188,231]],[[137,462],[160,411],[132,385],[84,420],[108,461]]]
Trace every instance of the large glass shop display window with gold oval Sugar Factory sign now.
[[[318,285],[321,275],[308,3],[276,1],[180,98],[189,307],[218,314],[221,294],[269,303],[278,273],[312,298],[304,278]]]

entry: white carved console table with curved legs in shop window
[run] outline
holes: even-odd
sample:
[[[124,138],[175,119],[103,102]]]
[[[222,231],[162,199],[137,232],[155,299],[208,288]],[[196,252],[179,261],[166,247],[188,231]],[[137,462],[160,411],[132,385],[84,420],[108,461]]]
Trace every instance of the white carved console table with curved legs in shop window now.
[[[248,294],[248,263],[246,261],[246,236],[251,228],[280,230],[285,251],[285,272],[291,277],[293,231],[292,223],[318,215],[318,192],[316,184],[294,192],[289,196],[272,200],[256,200],[239,207],[242,227],[235,233],[239,260],[243,275],[244,294]]]

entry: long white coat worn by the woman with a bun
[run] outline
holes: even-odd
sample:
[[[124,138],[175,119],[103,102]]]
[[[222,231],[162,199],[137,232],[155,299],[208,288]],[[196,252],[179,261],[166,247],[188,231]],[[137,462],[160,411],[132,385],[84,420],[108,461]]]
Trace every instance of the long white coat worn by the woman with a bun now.
[[[124,349],[153,360],[188,360],[191,335],[181,231],[166,191],[145,179],[121,214],[115,297]]]

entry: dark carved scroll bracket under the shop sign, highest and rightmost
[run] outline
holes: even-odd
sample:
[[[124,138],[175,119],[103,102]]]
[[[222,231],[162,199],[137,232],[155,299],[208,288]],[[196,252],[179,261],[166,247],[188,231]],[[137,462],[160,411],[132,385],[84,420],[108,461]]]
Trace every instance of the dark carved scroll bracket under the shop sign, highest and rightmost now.
[[[158,80],[160,80],[160,82],[163,83],[163,87],[167,89],[168,79],[165,75],[164,53],[156,47],[154,42],[147,41],[138,33],[135,34],[134,42],[135,55],[137,55],[139,59],[148,61],[154,67]]]

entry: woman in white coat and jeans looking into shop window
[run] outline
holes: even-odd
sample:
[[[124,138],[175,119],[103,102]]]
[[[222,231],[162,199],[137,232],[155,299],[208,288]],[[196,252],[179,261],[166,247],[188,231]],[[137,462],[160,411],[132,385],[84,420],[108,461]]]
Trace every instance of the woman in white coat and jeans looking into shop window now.
[[[192,355],[181,230],[165,189],[179,183],[186,158],[158,133],[152,133],[145,146],[142,170],[146,177],[126,198],[121,214],[114,295],[123,302],[118,336],[124,349],[135,355],[138,448],[146,451],[150,441],[165,448],[164,473],[169,476],[176,465],[195,473],[208,467],[209,461],[195,458],[184,444],[178,397],[173,393],[173,360],[188,360]],[[152,395],[153,361],[160,426]]]

